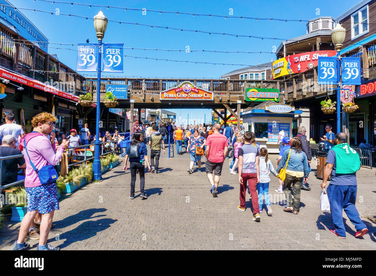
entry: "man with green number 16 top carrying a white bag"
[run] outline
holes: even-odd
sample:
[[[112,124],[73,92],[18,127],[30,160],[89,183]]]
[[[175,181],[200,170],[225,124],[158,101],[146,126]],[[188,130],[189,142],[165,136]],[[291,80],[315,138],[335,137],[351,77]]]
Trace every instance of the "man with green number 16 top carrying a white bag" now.
[[[355,149],[350,148],[345,133],[337,133],[333,146],[327,155],[324,178],[321,188],[324,189],[326,181],[331,175],[331,181],[327,188],[327,196],[332,213],[335,229],[330,232],[340,238],[346,238],[345,226],[342,218],[342,210],[345,210],[350,222],[355,226],[355,237],[360,238],[368,231],[359,217],[355,207],[356,201],[356,171],[360,169],[360,158]]]

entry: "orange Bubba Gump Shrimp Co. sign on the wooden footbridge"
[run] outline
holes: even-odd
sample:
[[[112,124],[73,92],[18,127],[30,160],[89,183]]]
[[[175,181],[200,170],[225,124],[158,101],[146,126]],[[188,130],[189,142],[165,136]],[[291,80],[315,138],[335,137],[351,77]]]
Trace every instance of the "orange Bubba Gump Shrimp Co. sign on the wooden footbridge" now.
[[[194,86],[190,81],[184,81],[178,87],[164,90],[161,100],[213,100],[213,92]]]

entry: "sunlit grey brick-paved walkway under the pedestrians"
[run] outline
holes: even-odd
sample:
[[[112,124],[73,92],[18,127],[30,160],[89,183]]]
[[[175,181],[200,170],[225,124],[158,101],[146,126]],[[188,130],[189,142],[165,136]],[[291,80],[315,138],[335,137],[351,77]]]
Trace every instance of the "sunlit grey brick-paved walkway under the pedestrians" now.
[[[141,200],[139,193],[133,200],[128,198],[130,171],[122,171],[124,158],[120,158],[119,166],[103,175],[102,182],[89,183],[62,198],[49,243],[63,250],[376,248],[373,236],[376,235],[373,234],[376,233],[375,170],[362,168],[357,173],[356,206],[370,231],[363,238],[356,239],[355,228],[344,214],[347,239],[341,240],[329,232],[333,228],[330,212],[318,208],[321,181],[314,176],[315,161],[312,161],[308,181],[312,190],[302,190],[299,214],[282,211],[282,194],[274,192],[278,184],[271,176],[273,216],[268,217],[264,211],[261,222],[254,222],[248,194],[246,211],[237,209],[238,175],[227,172],[227,160],[218,196],[213,198],[205,172],[199,173],[196,169],[191,175],[186,172],[188,154],[170,159],[166,155],[161,157],[160,173],[145,175],[149,196],[146,200]],[[276,157],[270,155],[275,168]],[[137,187],[139,179],[136,180]],[[19,227],[20,223],[5,223],[0,234],[0,249],[12,249]],[[36,250],[37,242],[29,240],[33,246],[31,250]]]

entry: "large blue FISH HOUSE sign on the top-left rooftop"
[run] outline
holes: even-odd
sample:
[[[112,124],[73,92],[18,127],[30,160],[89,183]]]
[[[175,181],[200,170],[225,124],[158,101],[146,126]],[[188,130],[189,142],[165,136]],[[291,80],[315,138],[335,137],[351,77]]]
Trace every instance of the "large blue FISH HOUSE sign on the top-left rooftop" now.
[[[11,6],[11,7],[9,7]],[[27,19],[21,12],[14,8],[14,6],[5,0],[0,0],[0,18],[2,23],[8,27],[12,27],[20,34],[23,38],[29,41],[38,41],[35,44],[38,44],[39,47],[47,52],[47,42],[48,39],[34,26],[29,19]],[[4,36],[5,34],[2,34]],[[6,41],[6,38],[2,38],[3,41]],[[7,42],[5,47],[9,46]]]

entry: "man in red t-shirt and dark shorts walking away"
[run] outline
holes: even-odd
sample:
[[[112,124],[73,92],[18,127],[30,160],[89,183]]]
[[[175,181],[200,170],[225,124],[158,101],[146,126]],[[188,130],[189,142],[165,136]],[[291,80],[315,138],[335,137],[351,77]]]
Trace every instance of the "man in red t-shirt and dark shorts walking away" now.
[[[213,197],[217,196],[217,188],[219,184],[219,176],[222,172],[222,166],[224,158],[227,156],[229,151],[229,144],[227,143],[227,138],[223,134],[219,133],[221,129],[220,124],[214,125],[214,133],[208,136],[206,140],[206,162],[205,169],[208,175],[209,182],[212,186],[210,192]],[[214,179],[213,179],[214,171]]]

